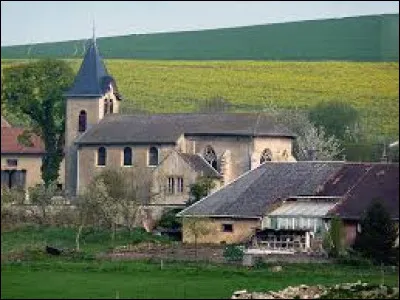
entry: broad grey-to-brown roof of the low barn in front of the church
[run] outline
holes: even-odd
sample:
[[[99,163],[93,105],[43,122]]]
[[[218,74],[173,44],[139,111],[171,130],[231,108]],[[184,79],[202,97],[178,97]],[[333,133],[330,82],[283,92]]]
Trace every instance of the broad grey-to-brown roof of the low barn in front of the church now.
[[[276,201],[296,196],[341,197],[326,217],[360,219],[375,198],[399,218],[399,164],[271,162],[251,170],[178,216],[261,217]]]

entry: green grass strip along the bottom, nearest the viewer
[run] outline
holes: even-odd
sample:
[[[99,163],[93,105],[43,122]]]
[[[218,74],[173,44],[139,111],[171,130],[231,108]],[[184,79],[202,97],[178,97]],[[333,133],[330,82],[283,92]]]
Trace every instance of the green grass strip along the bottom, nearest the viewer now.
[[[288,285],[381,283],[376,267],[298,264],[243,267],[151,262],[6,263],[1,268],[1,298],[230,298],[240,289],[279,290]],[[397,285],[397,273],[386,270],[384,282]]]

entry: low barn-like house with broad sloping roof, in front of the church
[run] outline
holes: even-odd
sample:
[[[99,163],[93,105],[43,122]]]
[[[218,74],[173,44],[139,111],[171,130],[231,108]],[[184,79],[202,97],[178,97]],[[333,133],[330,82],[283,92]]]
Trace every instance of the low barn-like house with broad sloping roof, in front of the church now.
[[[346,242],[375,198],[398,222],[399,165],[393,163],[266,162],[184,209],[183,242],[194,241],[187,224],[210,228],[203,243],[242,243],[261,237],[272,249],[308,251],[337,214]]]

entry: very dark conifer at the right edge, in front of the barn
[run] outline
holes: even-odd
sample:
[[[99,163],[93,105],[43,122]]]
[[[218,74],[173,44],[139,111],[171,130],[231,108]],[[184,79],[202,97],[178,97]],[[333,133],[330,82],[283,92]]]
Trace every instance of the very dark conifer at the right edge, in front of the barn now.
[[[397,230],[379,199],[374,199],[368,207],[360,225],[361,233],[356,237],[354,249],[375,262],[390,263]]]

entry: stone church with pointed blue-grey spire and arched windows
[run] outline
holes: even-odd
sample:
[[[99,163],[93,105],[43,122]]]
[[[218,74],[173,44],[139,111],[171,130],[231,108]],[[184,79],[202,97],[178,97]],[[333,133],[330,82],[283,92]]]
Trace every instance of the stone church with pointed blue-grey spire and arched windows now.
[[[105,168],[117,168],[152,174],[148,184],[158,196],[143,203],[183,205],[199,177],[212,178],[218,189],[263,162],[295,161],[294,134],[265,114],[120,114],[125,100],[95,38],[65,97],[70,197]]]

